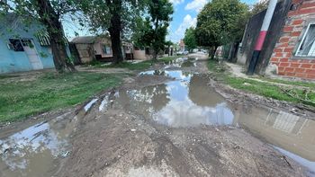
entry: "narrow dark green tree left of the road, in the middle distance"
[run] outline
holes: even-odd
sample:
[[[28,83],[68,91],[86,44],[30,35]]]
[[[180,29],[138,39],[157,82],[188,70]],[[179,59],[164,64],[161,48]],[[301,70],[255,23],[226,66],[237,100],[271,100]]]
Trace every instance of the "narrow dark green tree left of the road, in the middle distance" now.
[[[139,47],[153,49],[153,59],[156,60],[158,52],[166,45],[167,27],[174,13],[173,4],[168,0],[151,0],[146,10],[148,16],[138,19],[138,30],[133,39]]]

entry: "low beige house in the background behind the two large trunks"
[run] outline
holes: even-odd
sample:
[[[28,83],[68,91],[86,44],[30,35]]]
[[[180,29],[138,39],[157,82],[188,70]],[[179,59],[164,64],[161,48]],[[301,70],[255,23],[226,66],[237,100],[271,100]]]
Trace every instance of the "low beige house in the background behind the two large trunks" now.
[[[112,61],[112,41],[108,36],[82,36],[71,40],[76,46],[82,63],[98,61]],[[133,45],[122,42],[122,55],[125,59],[133,59]]]

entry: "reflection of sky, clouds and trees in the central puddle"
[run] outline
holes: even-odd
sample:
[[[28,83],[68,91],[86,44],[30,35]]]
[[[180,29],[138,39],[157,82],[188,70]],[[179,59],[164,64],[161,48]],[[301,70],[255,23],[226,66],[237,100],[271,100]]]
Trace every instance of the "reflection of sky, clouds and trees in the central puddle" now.
[[[159,70],[140,75],[166,75],[176,80],[140,90],[121,91],[116,102],[123,108],[138,111],[170,127],[232,124],[232,111],[200,75]]]

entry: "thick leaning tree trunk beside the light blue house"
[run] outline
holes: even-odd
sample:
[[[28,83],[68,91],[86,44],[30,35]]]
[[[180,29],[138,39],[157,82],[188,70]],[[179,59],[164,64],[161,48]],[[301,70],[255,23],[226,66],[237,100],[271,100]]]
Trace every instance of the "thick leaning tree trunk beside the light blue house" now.
[[[42,22],[49,33],[50,45],[54,64],[58,73],[76,71],[73,63],[69,61],[66,51],[63,29],[59,22],[59,15],[53,10],[49,0],[37,0]]]

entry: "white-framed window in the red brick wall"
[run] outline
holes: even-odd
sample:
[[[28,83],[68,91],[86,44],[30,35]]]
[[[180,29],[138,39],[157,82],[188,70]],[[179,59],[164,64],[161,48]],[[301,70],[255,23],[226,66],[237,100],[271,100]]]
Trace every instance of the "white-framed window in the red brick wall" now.
[[[309,24],[296,51],[299,57],[315,57],[315,23]]]

